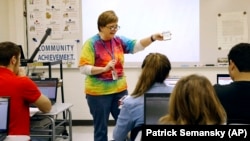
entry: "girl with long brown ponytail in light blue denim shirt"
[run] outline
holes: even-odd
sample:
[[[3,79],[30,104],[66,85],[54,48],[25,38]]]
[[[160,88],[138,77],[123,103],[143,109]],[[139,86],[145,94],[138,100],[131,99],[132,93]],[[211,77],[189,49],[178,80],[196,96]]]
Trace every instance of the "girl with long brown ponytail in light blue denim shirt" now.
[[[121,112],[113,131],[115,141],[125,141],[133,128],[144,124],[144,93],[172,91],[172,88],[164,83],[170,70],[171,64],[165,55],[150,53],[146,56],[134,91],[123,100]]]

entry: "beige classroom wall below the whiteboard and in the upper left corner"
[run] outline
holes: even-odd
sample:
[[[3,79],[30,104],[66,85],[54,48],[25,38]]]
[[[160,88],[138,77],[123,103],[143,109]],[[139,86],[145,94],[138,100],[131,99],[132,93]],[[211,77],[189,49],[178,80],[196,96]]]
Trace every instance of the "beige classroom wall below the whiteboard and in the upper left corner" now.
[[[214,0],[217,1],[217,0]],[[0,41],[10,40],[26,45],[25,19],[23,18],[23,4],[21,0],[0,0]],[[184,76],[191,73],[198,73],[207,76],[214,84],[217,73],[227,73],[226,67],[190,67],[190,68],[173,68],[171,76]],[[140,74],[140,68],[125,68],[127,76],[128,91],[132,92]],[[45,72],[45,75],[48,75]],[[59,70],[53,69],[52,76],[59,77]],[[78,69],[63,69],[64,81],[64,98],[65,102],[73,103],[72,118],[73,120],[91,120],[89,109],[83,92],[84,76]],[[59,90],[60,100],[60,90]]]

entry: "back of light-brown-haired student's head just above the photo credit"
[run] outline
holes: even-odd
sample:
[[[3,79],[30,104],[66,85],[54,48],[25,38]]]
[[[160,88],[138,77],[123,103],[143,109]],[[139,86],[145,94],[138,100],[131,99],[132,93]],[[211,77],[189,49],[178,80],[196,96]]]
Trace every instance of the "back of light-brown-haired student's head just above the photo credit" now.
[[[204,76],[191,74],[182,77],[169,100],[169,113],[160,124],[217,125],[226,123],[226,112],[211,82]]]

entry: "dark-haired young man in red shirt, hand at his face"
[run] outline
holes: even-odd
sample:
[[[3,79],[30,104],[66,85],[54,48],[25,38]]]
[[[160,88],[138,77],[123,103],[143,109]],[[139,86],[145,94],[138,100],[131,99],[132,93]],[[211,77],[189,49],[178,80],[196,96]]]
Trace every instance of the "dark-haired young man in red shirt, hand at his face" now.
[[[51,110],[50,100],[20,69],[20,55],[15,43],[0,43],[0,96],[10,96],[9,135],[30,135],[30,103],[42,112]]]

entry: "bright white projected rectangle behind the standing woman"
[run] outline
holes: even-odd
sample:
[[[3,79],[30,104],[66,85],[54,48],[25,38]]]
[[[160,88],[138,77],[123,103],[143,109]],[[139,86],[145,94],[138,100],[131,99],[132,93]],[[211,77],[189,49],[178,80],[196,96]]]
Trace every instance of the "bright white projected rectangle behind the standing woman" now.
[[[114,10],[119,17],[116,35],[131,39],[170,31],[172,39],[155,41],[145,50],[125,55],[125,66],[140,66],[150,52],[166,54],[171,62],[200,62],[199,0],[84,0],[82,2],[83,42],[98,33],[98,16]]]

